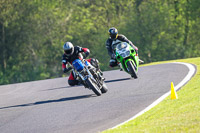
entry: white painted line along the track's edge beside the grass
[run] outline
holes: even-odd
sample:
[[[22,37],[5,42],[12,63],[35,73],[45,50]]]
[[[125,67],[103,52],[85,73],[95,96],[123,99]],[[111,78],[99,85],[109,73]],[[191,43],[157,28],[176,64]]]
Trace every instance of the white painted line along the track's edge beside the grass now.
[[[189,68],[189,72],[188,72],[187,76],[178,85],[176,85],[174,87],[174,89],[177,91],[180,87],[182,87],[185,83],[187,83],[192,78],[192,76],[195,73],[195,67],[193,65],[191,65],[191,64],[188,64],[188,63],[182,63],[182,62],[174,62],[174,63],[186,65]],[[162,100],[164,100],[170,94],[171,94],[171,90],[169,92],[165,93],[160,98],[158,98],[151,105],[149,105],[147,108],[145,108],[144,110],[142,110],[141,112],[139,112],[138,114],[133,116],[132,118],[128,119],[127,121],[125,121],[125,122],[123,122],[121,124],[116,125],[115,127],[111,128],[111,129],[117,128],[117,127],[119,127],[119,126],[121,126],[121,125],[123,125],[123,124],[125,124],[125,123],[127,123],[127,122],[129,122],[129,121],[131,121],[133,119],[135,119],[136,117],[142,115],[143,113],[147,112],[148,110],[150,110],[151,108],[156,106],[158,103],[160,103]]]

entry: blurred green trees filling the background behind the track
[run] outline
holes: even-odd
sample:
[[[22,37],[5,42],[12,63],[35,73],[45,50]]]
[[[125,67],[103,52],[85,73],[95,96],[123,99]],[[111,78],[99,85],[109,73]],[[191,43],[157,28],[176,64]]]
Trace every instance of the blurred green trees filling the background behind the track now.
[[[116,27],[146,63],[200,56],[199,0],[0,0],[0,84],[64,76],[64,42],[109,70]]]

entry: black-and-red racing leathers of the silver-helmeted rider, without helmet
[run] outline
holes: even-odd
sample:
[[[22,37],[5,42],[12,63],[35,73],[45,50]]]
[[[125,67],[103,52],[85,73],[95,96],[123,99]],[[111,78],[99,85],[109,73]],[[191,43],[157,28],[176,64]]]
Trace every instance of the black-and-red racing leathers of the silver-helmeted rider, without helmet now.
[[[64,53],[63,56],[62,56],[62,69],[63,69],[63,72],[68,72],[69,70],[71,70],[71,67],[66,68],[67,63],[72,64],[72,62],[74,60],[76,60],[76,59],[83,59],[83,56],[81,54],[83,52],[85,53],[86,57],[89,56],[89,54],[90,54],[90,50],[88,48],[82,48],[82,47],[79,47],[79,46],[75,46],[74,47],[74,52],[70,56],[67,56]],[[91,60],[92,59],[87,59],[88,62],[91,62]],[[73,72],[71,72],[70,76],[68,78],[68,84],[69,85],[74,86],[74,85],[78,85],[79,84],[79,81],[76,80],[75,77],[76,76],[73,74]]]

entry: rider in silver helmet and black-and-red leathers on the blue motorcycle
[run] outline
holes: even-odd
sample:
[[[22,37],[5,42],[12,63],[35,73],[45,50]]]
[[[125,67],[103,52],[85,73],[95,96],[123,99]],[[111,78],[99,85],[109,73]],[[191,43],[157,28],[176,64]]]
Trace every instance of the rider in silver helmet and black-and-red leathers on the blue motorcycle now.
[[[88,48],[82,48],[80,46],[73,46],[71,42],[66,42],[63,45],[64,54],[62,56],[62,70],[64,73],[70,71],[72,68],[67,68],[67,63],[72,64],[72,62],[76,59],[83,59],[83,56],[81,53],[85,53],[85,58],[89,56],[90,50]],[[92,66],[98,67],[98,60],[97,59],[86,59],[88,62],[91,63]],[[78,85],[79,81],[76,80],[76,76],[73,74],[73,72],[70,73],[70,76],[68,78],[68,84],[70,86]]]

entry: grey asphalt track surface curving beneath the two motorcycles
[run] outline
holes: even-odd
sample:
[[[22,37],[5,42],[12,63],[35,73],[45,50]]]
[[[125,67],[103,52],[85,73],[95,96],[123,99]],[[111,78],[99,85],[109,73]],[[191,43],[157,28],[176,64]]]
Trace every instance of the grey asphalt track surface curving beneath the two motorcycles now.
[[[102,96],[68,86],[67,78],[0,86],[0,132],[101,132],[142,111],[188,71],[176,63],[140,67],[138,79],[124,71],[106,71],[109,90]]]

